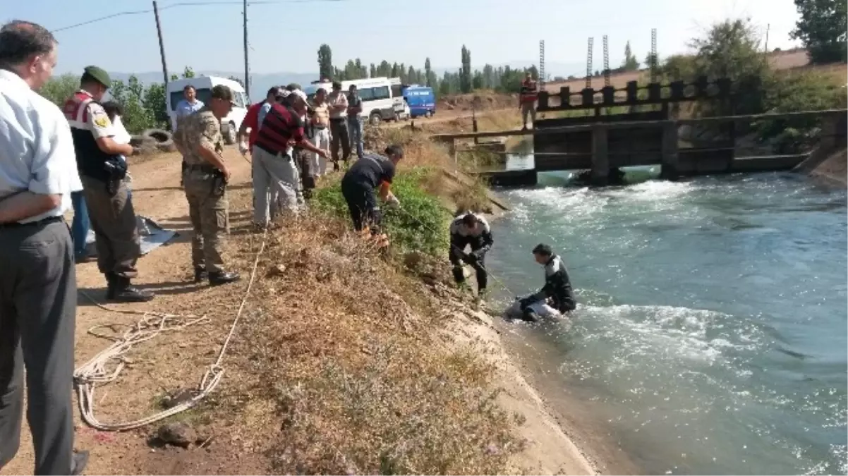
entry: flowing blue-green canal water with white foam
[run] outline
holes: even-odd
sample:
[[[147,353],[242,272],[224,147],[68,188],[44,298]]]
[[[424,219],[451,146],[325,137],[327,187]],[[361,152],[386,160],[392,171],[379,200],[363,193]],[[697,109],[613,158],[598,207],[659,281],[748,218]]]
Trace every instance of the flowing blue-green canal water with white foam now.
[[[848,193],[566,175],[503,191],[488,268],[524,294],[543,281],[533,246],[565,258],[572,322],[516,326],[555,346],[616,444],[652,475],[848,474]]]

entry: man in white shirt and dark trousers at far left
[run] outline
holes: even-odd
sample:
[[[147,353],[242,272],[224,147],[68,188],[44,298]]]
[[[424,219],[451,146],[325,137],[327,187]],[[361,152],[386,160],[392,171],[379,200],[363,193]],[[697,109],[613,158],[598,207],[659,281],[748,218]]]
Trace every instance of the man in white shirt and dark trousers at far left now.
[[[27,421],[39,476],[80,475],[74,454],[76,276],[63,214],[81,190],[62,111],[35,91],[53,74],[56,40],[34,23],[0,28],[0,473]]]

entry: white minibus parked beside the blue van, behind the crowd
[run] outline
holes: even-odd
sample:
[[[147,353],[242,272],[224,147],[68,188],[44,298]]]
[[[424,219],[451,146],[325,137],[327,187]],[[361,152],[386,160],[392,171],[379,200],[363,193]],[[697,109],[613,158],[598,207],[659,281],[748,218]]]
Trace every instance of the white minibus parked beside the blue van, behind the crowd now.
[[[350,85],[355,85],[362,99],[360,116],[367,118],[372,125],[378,125],[383,120],[398,120],[410,117],[409,107],[406,106],[401,93],[399,78],[369,78],[366,80],[342,81],[342,91],[347,94]],[[315,82],[304,87],[304,92],[310,100],[315,97],[319,88],[332,91],[332,82]]]

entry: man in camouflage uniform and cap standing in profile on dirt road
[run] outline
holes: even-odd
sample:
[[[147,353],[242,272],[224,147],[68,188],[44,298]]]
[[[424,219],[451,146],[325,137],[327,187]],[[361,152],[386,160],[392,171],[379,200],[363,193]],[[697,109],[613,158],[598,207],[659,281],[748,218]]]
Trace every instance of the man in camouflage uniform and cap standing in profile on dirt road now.
[[[224,269],[220,251],[221,235],[229,222],[226,183],[230,180],[230,170],[220,155],[224,151],[220,118],[230,113],[232,106],[230,88],[215,86],[209,103],[182,119],[174,133],[174,143],[187,164],[182,182],[194,228],[194,280],[208,279],[210,285],[239,280],[238,274]]]

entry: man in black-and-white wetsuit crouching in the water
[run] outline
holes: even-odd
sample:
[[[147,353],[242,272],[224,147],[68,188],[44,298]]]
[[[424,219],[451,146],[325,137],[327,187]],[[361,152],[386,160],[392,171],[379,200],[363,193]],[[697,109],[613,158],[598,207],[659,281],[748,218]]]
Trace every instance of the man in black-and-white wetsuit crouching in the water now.
[[[523,298],[521,310],[527,320],[538,320],[538,314],[531,306],[537,302],[550,300],[550,305],[561,313],[568,313],[577,308],[572,291],[572,281],[568,278],[568,270],[562,258],[555,255],[550,246],[539,244],[533,248],[536,263],[544,266],[544,286],[536,294]]]

